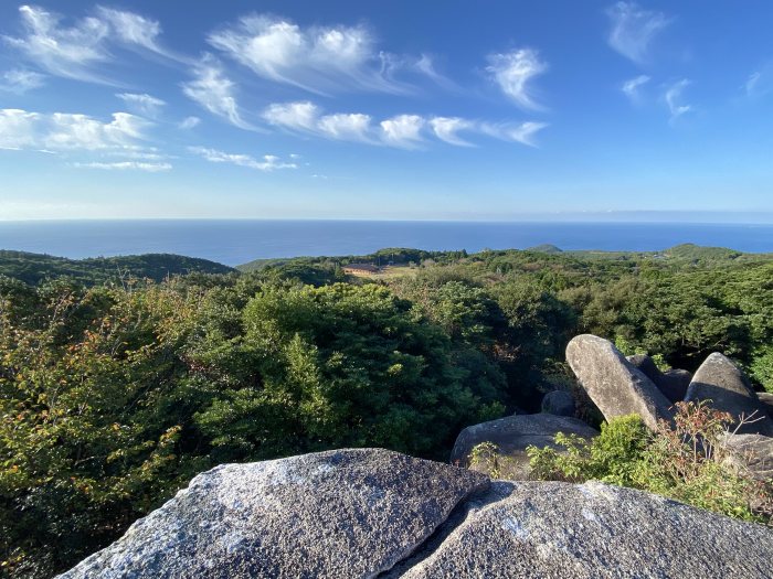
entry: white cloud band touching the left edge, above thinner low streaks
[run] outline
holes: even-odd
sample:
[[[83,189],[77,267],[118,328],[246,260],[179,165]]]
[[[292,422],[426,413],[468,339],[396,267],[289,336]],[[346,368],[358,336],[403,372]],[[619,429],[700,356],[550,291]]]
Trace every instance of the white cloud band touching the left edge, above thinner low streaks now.
[[[136,147],[146,138],[148,121],[115,112],[104,122],[86,115],[43,115],[20,109],[0,109],[0,149],[96,151]]]

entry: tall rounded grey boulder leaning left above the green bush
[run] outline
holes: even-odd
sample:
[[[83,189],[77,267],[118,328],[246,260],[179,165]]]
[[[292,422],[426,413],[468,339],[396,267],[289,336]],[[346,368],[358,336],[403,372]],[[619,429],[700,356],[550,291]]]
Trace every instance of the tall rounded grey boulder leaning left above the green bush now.
[[[650,429],[673,419],[671,403],[608,340],[578,335],[566,346],[566,362],[607,420],[638,414]]]

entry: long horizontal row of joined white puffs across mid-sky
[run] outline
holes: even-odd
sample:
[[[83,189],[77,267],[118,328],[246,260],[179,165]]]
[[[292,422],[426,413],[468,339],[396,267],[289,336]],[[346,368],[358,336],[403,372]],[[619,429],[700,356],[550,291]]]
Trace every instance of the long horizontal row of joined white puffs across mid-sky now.
[[[420,148],[430,138],[457,147],[472,146],[472,142],[459,137],[460,132],[486,135],[533,147],[533,136],[548,126],[544,122],[491,124],[460,117],[420,115],[396,115],[377,122],[371,116],[358,112],[325,115],[308,100],[275,103],[266,107],[263,118],[273,127],[300,135],[402,149]]]

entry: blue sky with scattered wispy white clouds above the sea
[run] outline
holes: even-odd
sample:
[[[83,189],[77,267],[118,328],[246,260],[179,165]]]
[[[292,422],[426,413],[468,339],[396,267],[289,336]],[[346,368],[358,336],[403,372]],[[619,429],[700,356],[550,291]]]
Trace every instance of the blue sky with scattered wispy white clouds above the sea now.
[[[0,219],[773,221],[771,22],[767,0],[2,2]]]

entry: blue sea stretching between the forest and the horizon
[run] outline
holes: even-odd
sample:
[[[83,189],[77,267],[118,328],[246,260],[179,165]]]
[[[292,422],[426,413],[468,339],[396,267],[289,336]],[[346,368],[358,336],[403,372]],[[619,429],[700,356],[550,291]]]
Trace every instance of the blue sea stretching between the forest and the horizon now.
[[[0,249],[70,258],[170,253],[230,266],[252,259],[420,249],[658,250],[677,244],[773,251],[773,225],[357,221],[0,222]]]

